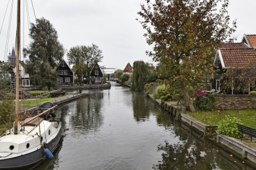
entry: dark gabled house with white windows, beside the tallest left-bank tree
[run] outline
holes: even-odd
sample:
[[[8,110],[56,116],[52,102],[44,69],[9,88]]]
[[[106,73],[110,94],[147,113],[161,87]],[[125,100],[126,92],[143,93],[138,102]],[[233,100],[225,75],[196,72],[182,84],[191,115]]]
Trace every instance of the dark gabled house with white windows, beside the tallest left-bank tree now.
[[[69,85],[75,82],[75,75],[65,60],[61,60],[61,62],[59,62],[59,66],[56,68],[56,71],[58,84]]]

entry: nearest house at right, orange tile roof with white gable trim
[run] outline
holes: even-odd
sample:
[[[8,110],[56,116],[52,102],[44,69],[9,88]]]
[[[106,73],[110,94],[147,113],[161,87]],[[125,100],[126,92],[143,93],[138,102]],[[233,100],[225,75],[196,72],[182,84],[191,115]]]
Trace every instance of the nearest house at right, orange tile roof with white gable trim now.
[[[242,69],[256,64],[256,35],[244,35],[242,42],[225,43],[217,50],[214,59],[218,73],[214,75],[216,90],[220,90],[220,76],[227,69]]]

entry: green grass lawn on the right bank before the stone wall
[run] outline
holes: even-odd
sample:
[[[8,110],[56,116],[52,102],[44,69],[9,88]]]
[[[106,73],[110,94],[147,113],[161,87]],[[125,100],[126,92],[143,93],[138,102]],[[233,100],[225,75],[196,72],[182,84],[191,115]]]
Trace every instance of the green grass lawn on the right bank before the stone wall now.
[[[213,112],[187,112],[204,124],[218,124],[226,115],[242,120],[243,125],[256,129],[256,110],[216,110]]]

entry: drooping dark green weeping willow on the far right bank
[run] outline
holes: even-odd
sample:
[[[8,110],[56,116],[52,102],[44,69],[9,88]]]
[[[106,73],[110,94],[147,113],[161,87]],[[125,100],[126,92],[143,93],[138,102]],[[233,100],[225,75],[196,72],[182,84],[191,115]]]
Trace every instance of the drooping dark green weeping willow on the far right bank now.
[[[143,91],[149,75],[148,65],[142,60],[133,62],[133,75],[131,77],[131,89]]]

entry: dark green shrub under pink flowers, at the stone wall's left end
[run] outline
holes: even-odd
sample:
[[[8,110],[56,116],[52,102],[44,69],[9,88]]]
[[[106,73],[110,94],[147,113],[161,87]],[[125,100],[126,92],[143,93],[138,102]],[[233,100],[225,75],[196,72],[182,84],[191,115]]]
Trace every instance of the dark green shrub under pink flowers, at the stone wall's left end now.
[[[195,106],[199,110],[212,111],[216,108],[216,100],[214,95],[197,96],[195,98]]]

